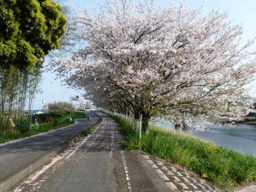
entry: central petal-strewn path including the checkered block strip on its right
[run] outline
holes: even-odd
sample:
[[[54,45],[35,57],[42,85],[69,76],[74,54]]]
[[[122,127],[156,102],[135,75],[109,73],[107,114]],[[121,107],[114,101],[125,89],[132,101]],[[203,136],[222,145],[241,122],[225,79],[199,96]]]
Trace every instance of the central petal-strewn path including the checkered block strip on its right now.
[[[123,151],[118,124],[102,124],[15,191],[218,191],[195,174],[148,154]]]

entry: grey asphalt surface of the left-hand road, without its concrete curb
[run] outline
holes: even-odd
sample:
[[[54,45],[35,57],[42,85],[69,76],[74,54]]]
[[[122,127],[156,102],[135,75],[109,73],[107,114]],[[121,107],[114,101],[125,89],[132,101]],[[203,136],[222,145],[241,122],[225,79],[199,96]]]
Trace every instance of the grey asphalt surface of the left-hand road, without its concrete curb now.
[[[77,136],[97,121],[98,116],[91,113],[91,119],[77,119],[77,123],[63,129],[33,136],[0,147],[0,183],[34,163],[46,154],[63,146],[68,140]]]

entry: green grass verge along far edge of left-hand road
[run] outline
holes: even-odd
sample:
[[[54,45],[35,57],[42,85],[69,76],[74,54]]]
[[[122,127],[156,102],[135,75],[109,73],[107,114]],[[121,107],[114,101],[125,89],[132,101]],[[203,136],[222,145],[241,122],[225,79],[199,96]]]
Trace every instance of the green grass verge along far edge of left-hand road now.
[[[70,116],[72,117],[72,122],[70,123]],[[71,114],[65,114],[58,118],[48,118],[46,122],[43,124],[31,124],[30,131],[28,132],[20,132],[19,130],[14,131],[10,129],[8,131],[0,132],[0,143],[5,143],[10,140],[17,140],[19,138],[24,138],[27,136],[32,136],[35,134],[39,134],[41,132],[47,132],[54,129],[59,129],[61,127],[65,127],[67,125],[74,124],[75,118],[85,118],[86,115],[81,112],[74,112]]]

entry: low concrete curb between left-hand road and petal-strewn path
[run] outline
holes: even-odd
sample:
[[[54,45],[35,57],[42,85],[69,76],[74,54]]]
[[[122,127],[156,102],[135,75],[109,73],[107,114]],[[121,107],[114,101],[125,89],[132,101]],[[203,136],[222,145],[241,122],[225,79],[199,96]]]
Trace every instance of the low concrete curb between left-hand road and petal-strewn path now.
[[[96,124],[96,122],[95,122],[95,124]],[[67,127],[69,127],[69,126],[70,125],[68,125]],[[62,128],[65,128],[65,127],[61,127],[61,129]],[[88,129],[88,128],[89,127],[87,127],[86,129]],[[86,130],[86,129],[84,129],[84,130]],[[49,152],[49,154],[46,154],[45,156],[43,156],[42,158],[38,159],[34,163],[29,164],[26,168],[21,170],[19,173],[16,173],[15,175],[12,175],[10,178],[8,178],[8,179],[4,180],[3,182],[1,182],[1,184],[0,184],[0,192],[4,192],[4,191],[7,191],[8,189],[13,188],[13,186],[19,184],[19,182],[21,180],[23,180],[24,178],[28,177],[29,174],[35,172],[35,170],[40,168],[43,164],[46,164],[49,161],[51,161],[52,157],[56,157],[58,154],[63,152],[68,146],[70,146],[73,143],[81,140],[81,135],[82,135],[83,131],[79,132],[79,134],[77,136],[73,136],[73,137],[67,138],[63,146],[55,148],[54,150]]]

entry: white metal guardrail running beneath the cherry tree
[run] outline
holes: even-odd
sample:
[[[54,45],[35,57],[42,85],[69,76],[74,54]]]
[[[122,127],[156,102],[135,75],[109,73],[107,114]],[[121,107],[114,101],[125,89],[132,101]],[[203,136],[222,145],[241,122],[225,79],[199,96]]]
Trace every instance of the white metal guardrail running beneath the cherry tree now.
[[[110,116],[120,116],[125,120],[125,122],[131,124],[132,129],[136,131],[141,139],[141,127],[142,127],[142,116],[140,116],[139,119],[134,118],[134,116],[129,116],[129,115],[124,115],[122,113],[116,113],[116,112],[111,112],[106,109],[99,109],[100,111],[110,115]]]

